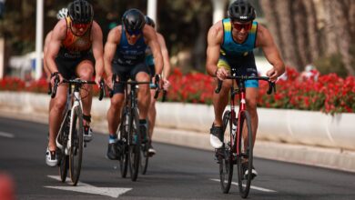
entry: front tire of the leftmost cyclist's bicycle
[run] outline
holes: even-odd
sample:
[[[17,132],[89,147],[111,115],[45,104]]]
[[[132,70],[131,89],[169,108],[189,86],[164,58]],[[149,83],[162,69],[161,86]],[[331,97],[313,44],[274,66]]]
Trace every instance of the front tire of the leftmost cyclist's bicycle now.
[[[71,138],[71,148],[69,153],[69,168],[70,168],[70,178],[73,185],[76,185],[79,181],[81,163],[83,159],[83,114],[80,106],[76,106],[73,109],[72,118],[72,138]]]

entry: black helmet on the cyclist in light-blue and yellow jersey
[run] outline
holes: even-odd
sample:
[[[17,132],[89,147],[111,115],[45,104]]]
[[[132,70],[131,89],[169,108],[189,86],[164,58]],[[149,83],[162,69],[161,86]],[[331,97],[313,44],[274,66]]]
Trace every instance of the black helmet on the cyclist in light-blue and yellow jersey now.
[[[228,17],[232,21],[250,22],[255,19],[256,12],[247,0],[236,0],[228,7]]]

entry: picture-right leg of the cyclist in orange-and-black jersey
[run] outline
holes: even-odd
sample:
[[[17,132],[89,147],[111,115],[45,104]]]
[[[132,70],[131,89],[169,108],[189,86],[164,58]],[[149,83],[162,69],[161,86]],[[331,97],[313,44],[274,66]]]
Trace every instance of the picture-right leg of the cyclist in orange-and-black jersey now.
[[[90,81],[94,75],[94,63],[91,60],[85,59],[76,66],[76,76],[81,80]],[[83,85],[80,90],[83,103],[83,119],[84,119],[84,141],[92,140],[91,122],[91,105],[93,99],[92,85]]]

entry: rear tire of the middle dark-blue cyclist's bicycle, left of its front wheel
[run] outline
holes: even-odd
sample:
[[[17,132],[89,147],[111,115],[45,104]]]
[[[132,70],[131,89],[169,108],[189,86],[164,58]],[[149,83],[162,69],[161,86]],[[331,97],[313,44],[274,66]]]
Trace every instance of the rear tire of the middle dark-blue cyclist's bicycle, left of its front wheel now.
[[[128,135],[128,121],[129,114],[127,113],[127,107],[124,108],[121,117],[121,125],[119,127],[118,140],[121,142],[120,154],[119,154],[119,167],[121,171],[121,177],[126,178],[127,168],[128,168],[128,145],[127,145],[127,135]]]

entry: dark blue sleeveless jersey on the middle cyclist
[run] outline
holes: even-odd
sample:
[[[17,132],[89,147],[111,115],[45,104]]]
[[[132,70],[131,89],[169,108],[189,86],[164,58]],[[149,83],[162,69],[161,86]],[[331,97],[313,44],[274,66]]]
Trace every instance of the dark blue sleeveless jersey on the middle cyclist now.
[[[147,44],[143,33],[134,45],[128,44],[125,28],[122,26],[122,35],[116,50],[114,63],[124,66],[137,65],[145,62]]]

